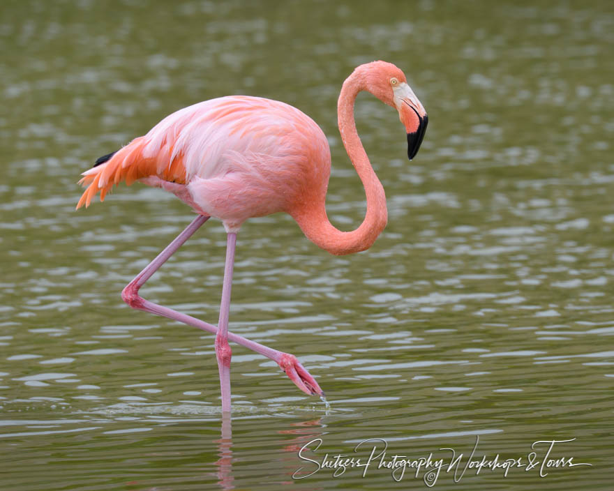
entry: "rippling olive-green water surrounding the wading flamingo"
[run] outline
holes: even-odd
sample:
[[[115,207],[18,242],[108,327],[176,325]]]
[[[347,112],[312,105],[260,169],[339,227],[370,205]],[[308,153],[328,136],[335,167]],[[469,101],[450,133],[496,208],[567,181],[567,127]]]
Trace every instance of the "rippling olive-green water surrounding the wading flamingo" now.
[[[376,464],[292,474],[316,469],[305,445],[366,460],[370,438],[387,458],[454,448],[462,470],[479,437],[475,459],[525,462],[534,441],[575,439],[551,458],[592,467],[458,483],[444,468],[435,488],[611,489],[613,48],[607,1],[3,2],[0,488],[427,489]],[[266,96],[329,135],[329,216],[353,229],[364,194],[336,98],[373,59],[405,70],[429,116],[409,163],[396,112],[357,101],[380,239],[333,257],[276,215],[237,246],[231,330],[297,355],[331,407],[233,347],[220,438],[211,335],[119,297],[193,215],[139,184],[75,212],[76,181],[176,109]],[[144,296],[215,323],[224,250],[211,220]]]

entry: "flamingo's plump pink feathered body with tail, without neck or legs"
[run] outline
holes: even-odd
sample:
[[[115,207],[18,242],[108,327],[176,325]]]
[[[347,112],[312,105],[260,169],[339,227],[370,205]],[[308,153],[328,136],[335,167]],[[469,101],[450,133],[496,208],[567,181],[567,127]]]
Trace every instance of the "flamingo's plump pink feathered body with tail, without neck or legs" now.
[[[324,202],[330,166],[326,136],[304,112],[276,100],[228,96],[170,114],[84,172],[89,188],[80,204],[114,183],[140,179],[237,232],[247,218]]]

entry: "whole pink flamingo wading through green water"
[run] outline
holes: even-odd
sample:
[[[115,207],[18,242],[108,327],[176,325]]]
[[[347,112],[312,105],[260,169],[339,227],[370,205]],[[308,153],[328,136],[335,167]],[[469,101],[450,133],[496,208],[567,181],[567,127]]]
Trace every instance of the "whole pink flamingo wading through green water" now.
[[[326,193],[331,154],[327,138],[309,116],[276,100],[227,96],[197,103],[165,117],[118,151],[96,160],[79,181],[87,189],[77,209],[100,201],[121,181],[163,188],[188,204],[197,217],[160,255],[123,289],[130,307],[168,317],[216,334],[223,414],[230,412],[228,341],[274,360],[301,391],[324,397],[322,389],[292,354],[260,345],[228,331],[230,292],[237,232],[251,217],[284,211],[307,236],[334,255],[368,249],[387,223],[384,188],[377,179],[354,123],[354,101],[368,91],[398,110],[407,133],[407,156],[416,155],[428,123],[424,106],[399,68],[385,61],[365,63],[343,82],[338,124],[343,144],[366,194],[364,221],[341,232],[327,218]],[[209,218],[223,222],[227,248],[218,325],[143,299],[139,289],[151,275]]]

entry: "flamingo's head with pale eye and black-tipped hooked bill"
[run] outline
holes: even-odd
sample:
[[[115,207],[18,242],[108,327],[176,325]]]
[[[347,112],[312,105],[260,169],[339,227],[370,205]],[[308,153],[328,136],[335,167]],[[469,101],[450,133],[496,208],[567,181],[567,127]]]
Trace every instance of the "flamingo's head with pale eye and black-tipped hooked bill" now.
[[[373,61],[357,68],[364,80],[364,89],[383,103],[396,107],[400,122],[407,132],[407,157],[412,160],[418,153],[428,116],[422,103],[407,85],[403,71],[386,61]]]

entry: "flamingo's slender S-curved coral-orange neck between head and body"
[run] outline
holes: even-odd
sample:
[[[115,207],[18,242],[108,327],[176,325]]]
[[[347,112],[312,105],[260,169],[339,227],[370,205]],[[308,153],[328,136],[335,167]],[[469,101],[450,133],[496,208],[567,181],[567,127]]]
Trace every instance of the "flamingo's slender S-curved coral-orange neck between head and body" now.
[[[362,90],[366,90],[364,79],[355,70],[343,83],[337,114],[343,145],[365,189],[367,212],[363,222],[352,232],[341,232],[331,224],[327,216],[325,199],[318,199],[293,213],[307,238],[334,255],[351,254],[370,248],[388,220],[384,188],[371,167],[354,122],[354,101]]]

